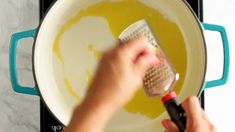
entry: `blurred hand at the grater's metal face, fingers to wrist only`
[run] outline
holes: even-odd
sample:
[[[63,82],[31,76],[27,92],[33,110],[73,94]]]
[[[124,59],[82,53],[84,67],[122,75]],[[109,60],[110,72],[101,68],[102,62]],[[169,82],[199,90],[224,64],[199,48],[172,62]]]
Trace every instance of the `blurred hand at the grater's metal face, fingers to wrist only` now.
[[[147,68],[158,62],[143,36],[104,52],[86,99],[113,108],[124,105],[141,87]]]

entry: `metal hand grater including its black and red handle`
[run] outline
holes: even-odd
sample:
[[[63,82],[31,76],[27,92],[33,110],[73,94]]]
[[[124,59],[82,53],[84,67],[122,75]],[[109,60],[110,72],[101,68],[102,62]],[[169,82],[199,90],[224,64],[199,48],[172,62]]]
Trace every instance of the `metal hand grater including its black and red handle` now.
[[[144,91],[149,97],[163,96],[162,102],[171,120],[175,122],[180,132],[184,132],[186,126],[185,111],[178,102],[176,93],[171,91],[179,79],[179,74],[161,49],[148,22],[144,19],[135,22],[121,33],[119,39],[121,43],[125,43],[139,35],[144,35],[148,39],[151,51],[160,60],[160,64],[153,65],[147,69],[143,79]]]

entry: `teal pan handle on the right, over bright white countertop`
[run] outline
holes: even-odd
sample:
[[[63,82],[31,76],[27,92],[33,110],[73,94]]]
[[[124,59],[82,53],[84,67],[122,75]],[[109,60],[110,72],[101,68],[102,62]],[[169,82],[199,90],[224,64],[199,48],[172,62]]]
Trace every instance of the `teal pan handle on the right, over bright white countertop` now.
[[[205,30],[210,31],[217,31],[220,33],[223,42],[223,51],[224,51],[224,68],[223,68],[223,75],[218,80],[208,81],[205,84],[205,89],[212,88],[215,86],[220,86],[226,84],[229,75],[229,67],[230,67],[230,53],[229,53],[229,43],[226,30],[223,26],[219,25],[212,25],[203,23],[202,24]]]

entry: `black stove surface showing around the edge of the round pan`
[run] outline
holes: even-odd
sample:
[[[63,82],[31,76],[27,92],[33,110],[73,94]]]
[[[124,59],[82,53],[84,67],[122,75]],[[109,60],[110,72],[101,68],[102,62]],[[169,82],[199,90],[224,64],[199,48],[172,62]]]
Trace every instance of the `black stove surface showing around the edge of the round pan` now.
[[[56,0],[40,0],[40,20],[46,14],[47,10]],[[203,21],[203,0],[186,0],[198,18]],[[201,105],[204,108],[204,92],[201,97]],[[41,132],[61,132],[63,131],[63,125],[61,125],[47,110],[44,103],[40,101],[40,131]]]

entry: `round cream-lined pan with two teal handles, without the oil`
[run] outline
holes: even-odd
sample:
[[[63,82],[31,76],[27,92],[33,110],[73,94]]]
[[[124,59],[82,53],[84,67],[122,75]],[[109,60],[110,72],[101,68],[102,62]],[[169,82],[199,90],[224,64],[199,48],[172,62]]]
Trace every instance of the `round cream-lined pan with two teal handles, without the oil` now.
[[[68,125],[73,109],[81,102],[75,100],[73,96],[68,94],[68,90],[64,88],[64,74],[62,72],[55,72],[56,68],[61,69],[62,66],[55,66],[54,55],[54,41],[61,30],[61,27],[67,21],[73,19],[77,12],[81,12],[84,9],[101,3],[101,2],[120,2],[122,0],[57,0],[50,10],[47,12],[40,26],[36,29],[15,33],[12,35],[10,43],[10,76],[13,90],[17,93],[24,93],[30,95],[39,95],[49,111],[54,117],[65,126]],[[175,23],[183,35],[187,53],[187,69],[185,79],[181,90],[179,91],[179,99],[182,101],[188,96],[199,96],[200,93],[206,88],[212,88],[226,83],[229,73],[229,45],[225,28],[219,25],[201,23],[190,6],[186,1],[181,0],[136,0],[142,2],[158,10],[162,15],[166,16],[173,23]],[[106,8],[102,9],[103,11]],[[132,10],[130,8],[130,10]],[[114,12],[115,13],[115,12]],[[138,12],[137,12],[138,13]],[[89,18],[88,18],[89,19]],[[88,21],[92,22],[92,21]],[[85,23],[86,24],[86,23]],[[93,22],[93,25],[96,24]],[[73,28],[73,27],[71,27]],[[62,29],[63,30],[63,29]],[[219,32],[223,42],[224,50],[224,68],[223,75],[218,80],[206,81],[206,42],[204,31],[211,30]],[[96,30],[95,30],[96,31]],[[104,30],[102,29],[101,32]],[[99,32],[97,29],[96,32]],[[74,32],[67,32],[67,36],[71,38],[77,37],[77,30]],[[107,40],[106,36],[97,36],[98,38],[92,38],[101,41],[101,43],[107,43],[104,46],[105,49],[112,47],[108,43],[112,43],[112,39]],[[35,87],[21,86],[17,78],[16,69],[16,51],[19,40],[24,38],[34,38],[33,57],[32,57],[32,69],[35,80]],[[81,38],[87,38],[86,35]],[[65,39],[66,40],[66,39]],[[68,40],[68,39],[67,39]],[[66,43],[74,43],[73,39],[66,40]],[[61,40],[63,41],[63,40]],[[73,47],[73,45],[70,45]],[[72,48],[65,46],[62,48],[68,55]],[[76,47],[76,46],[75,46]],[[82,52],[81,49],[76,49]],[[72,53],[72,52],[71,52]],[[68,60],[65,60],[65,64],[73,66],[77,59],[74,55],[69,55]],[[90,66],[92,69],[96,67],[96,61],[89,61],[87,56],[82,56],[83,61],[79,62],[79,67],[75,67],[78,70],[81,67]],[[77,66],[77,65],[74,65]],[[84,69],[82,69],[84,70]],[[75,70],[74,70],[75,72]],[[75,72],[76,73],[76,72]],[[79,72],[78,72],[79,73]],[[85,87],[83,75],[80,75],[78,80],[79,89],[83,89],[82,95],[85,95]],[[70,91],[71,92],[71,91]],[[144,106],[143,106],[144,107]],[[114,115],[114,119],[108,124],[106,131],[162,131],[163,128],[160,125],[160,121],[163,118],[167,118],[166,112],[163,112],[154,119],[149,119],[146,116],[140,114],[128,113],[125,111],[117,112]]]

